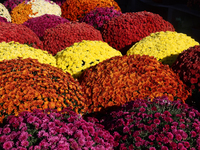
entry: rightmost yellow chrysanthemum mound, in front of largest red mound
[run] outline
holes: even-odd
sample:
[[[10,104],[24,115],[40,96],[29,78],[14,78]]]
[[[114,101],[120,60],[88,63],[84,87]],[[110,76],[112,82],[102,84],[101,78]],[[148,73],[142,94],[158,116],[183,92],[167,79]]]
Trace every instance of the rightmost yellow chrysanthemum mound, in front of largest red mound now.
[[[199,43],[186,34],[175,31],[161,31],[151,33],[134,44],[127,51],[127,55],[140,54],[154,56],[163,64],[171,66],[182,51],[195,45],[199,45]]]

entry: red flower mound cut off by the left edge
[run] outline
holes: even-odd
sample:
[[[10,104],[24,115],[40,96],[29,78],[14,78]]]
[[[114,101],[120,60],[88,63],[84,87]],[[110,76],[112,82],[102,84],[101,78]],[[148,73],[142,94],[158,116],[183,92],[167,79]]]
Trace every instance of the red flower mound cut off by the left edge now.
[[[0,42],[19,42],[28,44],[34,48],[43,49],[43,43],[39,37],[24,25],[0,22]]]

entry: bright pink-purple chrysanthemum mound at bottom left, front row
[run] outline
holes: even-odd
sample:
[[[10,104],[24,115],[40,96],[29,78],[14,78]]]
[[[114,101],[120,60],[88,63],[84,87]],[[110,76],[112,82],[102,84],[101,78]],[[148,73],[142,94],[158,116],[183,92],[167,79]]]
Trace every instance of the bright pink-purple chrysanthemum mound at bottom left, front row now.
[[[114,137],[103,126],[85,121],[69,108],[22,112],[9,116],[0,128],[4,150],[112,150],[113,146]]]

